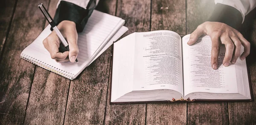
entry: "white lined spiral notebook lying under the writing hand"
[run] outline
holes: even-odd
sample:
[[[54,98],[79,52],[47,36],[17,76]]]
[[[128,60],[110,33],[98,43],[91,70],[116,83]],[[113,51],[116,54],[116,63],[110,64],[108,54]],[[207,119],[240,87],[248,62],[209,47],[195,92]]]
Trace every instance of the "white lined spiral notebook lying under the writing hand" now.
[[[123,26],[125,20],[94,10],[82,33],[78,34],[79,54],[78,63],[58,63],[53,60],[44,48],[43,40],[52,32],[50,25],[29,44],[20,54],[26,61],[36,64],[44,69],[55,72],[65,78],[73,80],[85,67],[90,65],[108,47],[121,37],[128,28]]]

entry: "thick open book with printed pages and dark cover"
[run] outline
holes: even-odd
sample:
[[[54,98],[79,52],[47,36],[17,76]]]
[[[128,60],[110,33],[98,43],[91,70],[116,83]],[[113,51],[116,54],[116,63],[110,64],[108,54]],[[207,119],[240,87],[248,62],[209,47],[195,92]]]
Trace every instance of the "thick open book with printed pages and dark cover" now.
[[[224,67],[221,46],[218,69],[212,69],[210,37],[189,46],[189,36],[151,31],[115,42],[111,103],[252,100],[246,61]]]

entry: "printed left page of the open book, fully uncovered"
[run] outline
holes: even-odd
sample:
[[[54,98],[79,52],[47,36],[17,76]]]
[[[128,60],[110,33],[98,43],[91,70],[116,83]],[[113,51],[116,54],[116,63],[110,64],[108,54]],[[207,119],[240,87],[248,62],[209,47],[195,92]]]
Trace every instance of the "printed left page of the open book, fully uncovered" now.
[[[172,31],[136,33],[133,90],[183,94],[181,38]]]

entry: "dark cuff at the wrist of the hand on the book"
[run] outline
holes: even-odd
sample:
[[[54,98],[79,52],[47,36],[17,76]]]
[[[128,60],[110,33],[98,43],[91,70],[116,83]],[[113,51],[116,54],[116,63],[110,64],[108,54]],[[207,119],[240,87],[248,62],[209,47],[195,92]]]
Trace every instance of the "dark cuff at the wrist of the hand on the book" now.
[[[242,25],[243,17],[239,10],[232,6],[217,3],[212,16],[208,19],[211,22],[223,22],[234,29]]]

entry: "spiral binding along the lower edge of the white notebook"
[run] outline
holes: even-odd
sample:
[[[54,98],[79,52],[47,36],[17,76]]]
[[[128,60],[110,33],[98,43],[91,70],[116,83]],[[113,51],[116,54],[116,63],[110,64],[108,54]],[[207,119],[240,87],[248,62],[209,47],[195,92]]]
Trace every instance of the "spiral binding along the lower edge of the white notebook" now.
[[[61,76],[65,77],[65,78],[68,78],[68,79],[71,79],[71,80],[73,80],[75,78],[75,75],[70,73],[70,72],[66,72],[64,70],[53,67],[53,66],[51,66],[47,63],[44,63],[44,62],[42,62],[42,61],[40,61],[36,58],[33,58],[31,56],[26,55],[26,54],[21,53],[20,58],[22,58],[26,61],[29,61],[32,64],[38,65],[39,67],[42,67],[42,68],[47,69],[49,71],[52,71],[52,72],[54,72],[58,75],[61,75]]]

